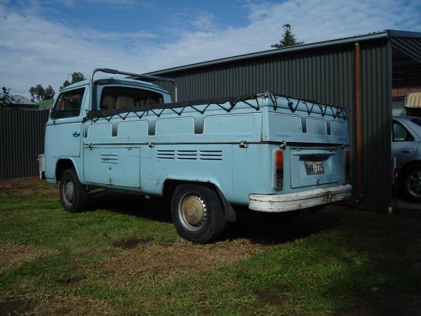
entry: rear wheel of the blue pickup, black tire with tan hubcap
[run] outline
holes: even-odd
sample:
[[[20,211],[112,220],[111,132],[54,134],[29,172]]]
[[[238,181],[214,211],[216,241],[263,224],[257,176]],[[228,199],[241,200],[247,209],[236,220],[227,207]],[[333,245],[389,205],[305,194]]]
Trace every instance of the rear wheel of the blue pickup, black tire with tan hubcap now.
[[[225,228],[220,198],[204,185],[178,185],[171,199],[171,215],[178,234],[190,242],[213,242]]]

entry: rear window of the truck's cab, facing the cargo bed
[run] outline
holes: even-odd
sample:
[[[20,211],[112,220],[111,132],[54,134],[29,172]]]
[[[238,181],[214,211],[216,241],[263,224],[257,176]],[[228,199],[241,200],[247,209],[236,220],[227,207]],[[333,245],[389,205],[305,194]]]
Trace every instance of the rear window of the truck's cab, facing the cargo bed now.
[[[142,88],[106,86],[102,89],[100,110],[147,110],[163,103],[161,93]]]

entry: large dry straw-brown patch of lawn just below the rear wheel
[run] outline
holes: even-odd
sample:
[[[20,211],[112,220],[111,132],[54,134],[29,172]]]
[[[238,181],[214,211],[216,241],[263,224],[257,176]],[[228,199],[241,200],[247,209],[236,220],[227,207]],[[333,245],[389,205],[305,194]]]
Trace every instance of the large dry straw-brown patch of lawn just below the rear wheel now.
[[[253,244],[246,239],[215,244],[192,244],[182,240],[173,244],[136,249],[117,258],[107,258],[97,263],[97,268],[121,273],[122,278],[125,272],[133,274],[152,271],[172,274],[182,270],[198,271],[224,263],[234,263],[267,248],[269,246]]]

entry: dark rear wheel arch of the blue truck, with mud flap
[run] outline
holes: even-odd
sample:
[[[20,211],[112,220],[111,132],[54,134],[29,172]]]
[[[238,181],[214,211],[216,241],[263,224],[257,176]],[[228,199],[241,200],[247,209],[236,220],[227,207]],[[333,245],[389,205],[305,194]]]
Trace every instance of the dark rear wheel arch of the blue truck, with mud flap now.
[[[211,189],[215,190],[215,192],[217,192],[218,194],[218,197],[220,198],[220,202],[224,206],[225,220],[227,220],[228,222],[235,222],[236,213],[234,209],[232,208],[231,204],[229,204],[227,199],[225,199],[225,196],[223,195],[218,185],[215,185],[215,183],[212,183],[210,181],[166,179],[163,183],[163,190],[162,190],[163,197],[171,199],[171,197],[173,196],[175,187],[177,187],[180,184],[204,185],[206,187],[210,187]]]

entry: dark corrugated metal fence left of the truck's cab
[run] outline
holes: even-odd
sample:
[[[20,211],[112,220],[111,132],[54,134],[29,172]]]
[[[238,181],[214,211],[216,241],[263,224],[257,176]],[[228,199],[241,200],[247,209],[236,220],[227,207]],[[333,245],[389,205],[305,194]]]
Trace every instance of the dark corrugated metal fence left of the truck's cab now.
[[[38,176],[48,110],[0,110],[0,180]]]

